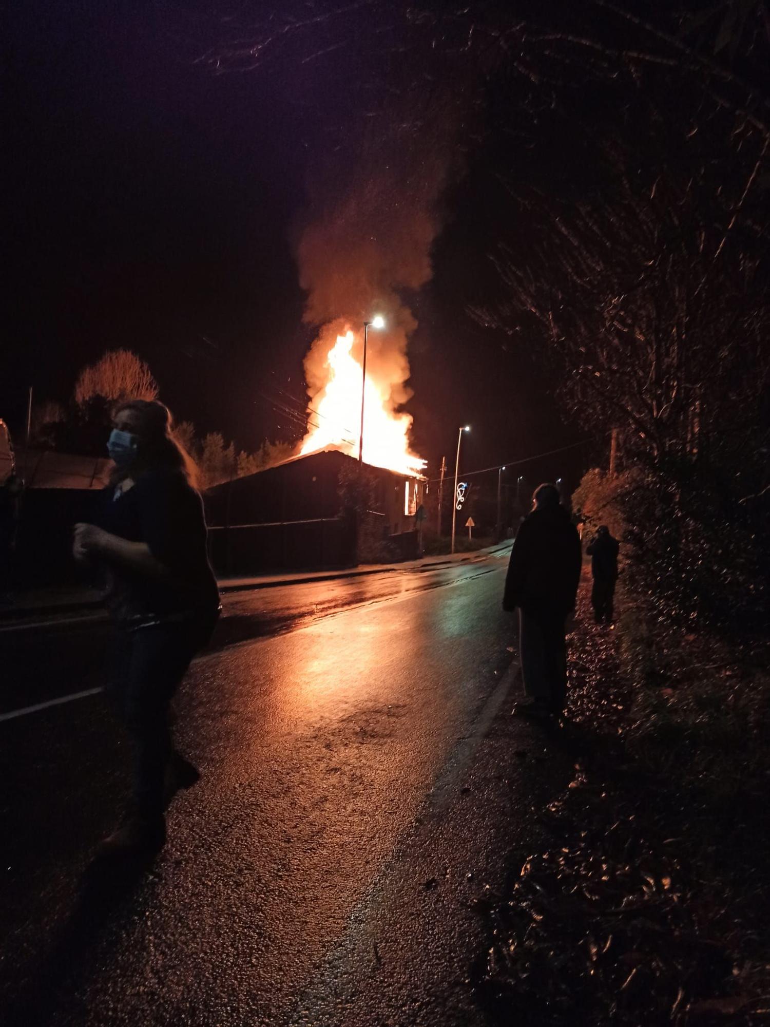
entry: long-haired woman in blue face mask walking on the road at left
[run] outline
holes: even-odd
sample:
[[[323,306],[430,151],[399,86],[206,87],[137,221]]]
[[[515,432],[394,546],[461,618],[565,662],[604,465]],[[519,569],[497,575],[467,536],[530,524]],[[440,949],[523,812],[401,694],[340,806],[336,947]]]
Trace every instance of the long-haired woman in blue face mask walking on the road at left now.
[[[174,750],[170,701],[220,610],[206,557],[195,466],[171,434],[166,407],[117,408],[108,443],[115,463],[99,525],[75,526],[74,555],[106,572],[108,606],[124,652],[115,682],[136,748],[134,802],[103,855],[159,850],[164,809],[198,771]]]

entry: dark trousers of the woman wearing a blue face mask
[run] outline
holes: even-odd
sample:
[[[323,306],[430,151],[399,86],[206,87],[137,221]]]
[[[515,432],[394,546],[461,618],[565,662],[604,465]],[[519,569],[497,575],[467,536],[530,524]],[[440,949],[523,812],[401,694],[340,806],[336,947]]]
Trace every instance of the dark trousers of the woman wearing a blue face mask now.
[[[163,814],[165,773],[174,752],[171,699],[213,629],[211,620],[187,620],[121,633],[122,665],[112,690],[133,741],[133,797],[136,812],[144,820]]]

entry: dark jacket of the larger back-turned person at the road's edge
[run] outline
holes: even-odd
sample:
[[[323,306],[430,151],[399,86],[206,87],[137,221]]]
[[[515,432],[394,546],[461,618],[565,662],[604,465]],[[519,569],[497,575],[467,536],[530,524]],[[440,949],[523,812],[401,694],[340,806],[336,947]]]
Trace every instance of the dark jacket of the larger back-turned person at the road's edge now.
[[[581,563],[580,536],[564,506],[533,510],[513,543],[503,609],[566,617],[575,607]]]

